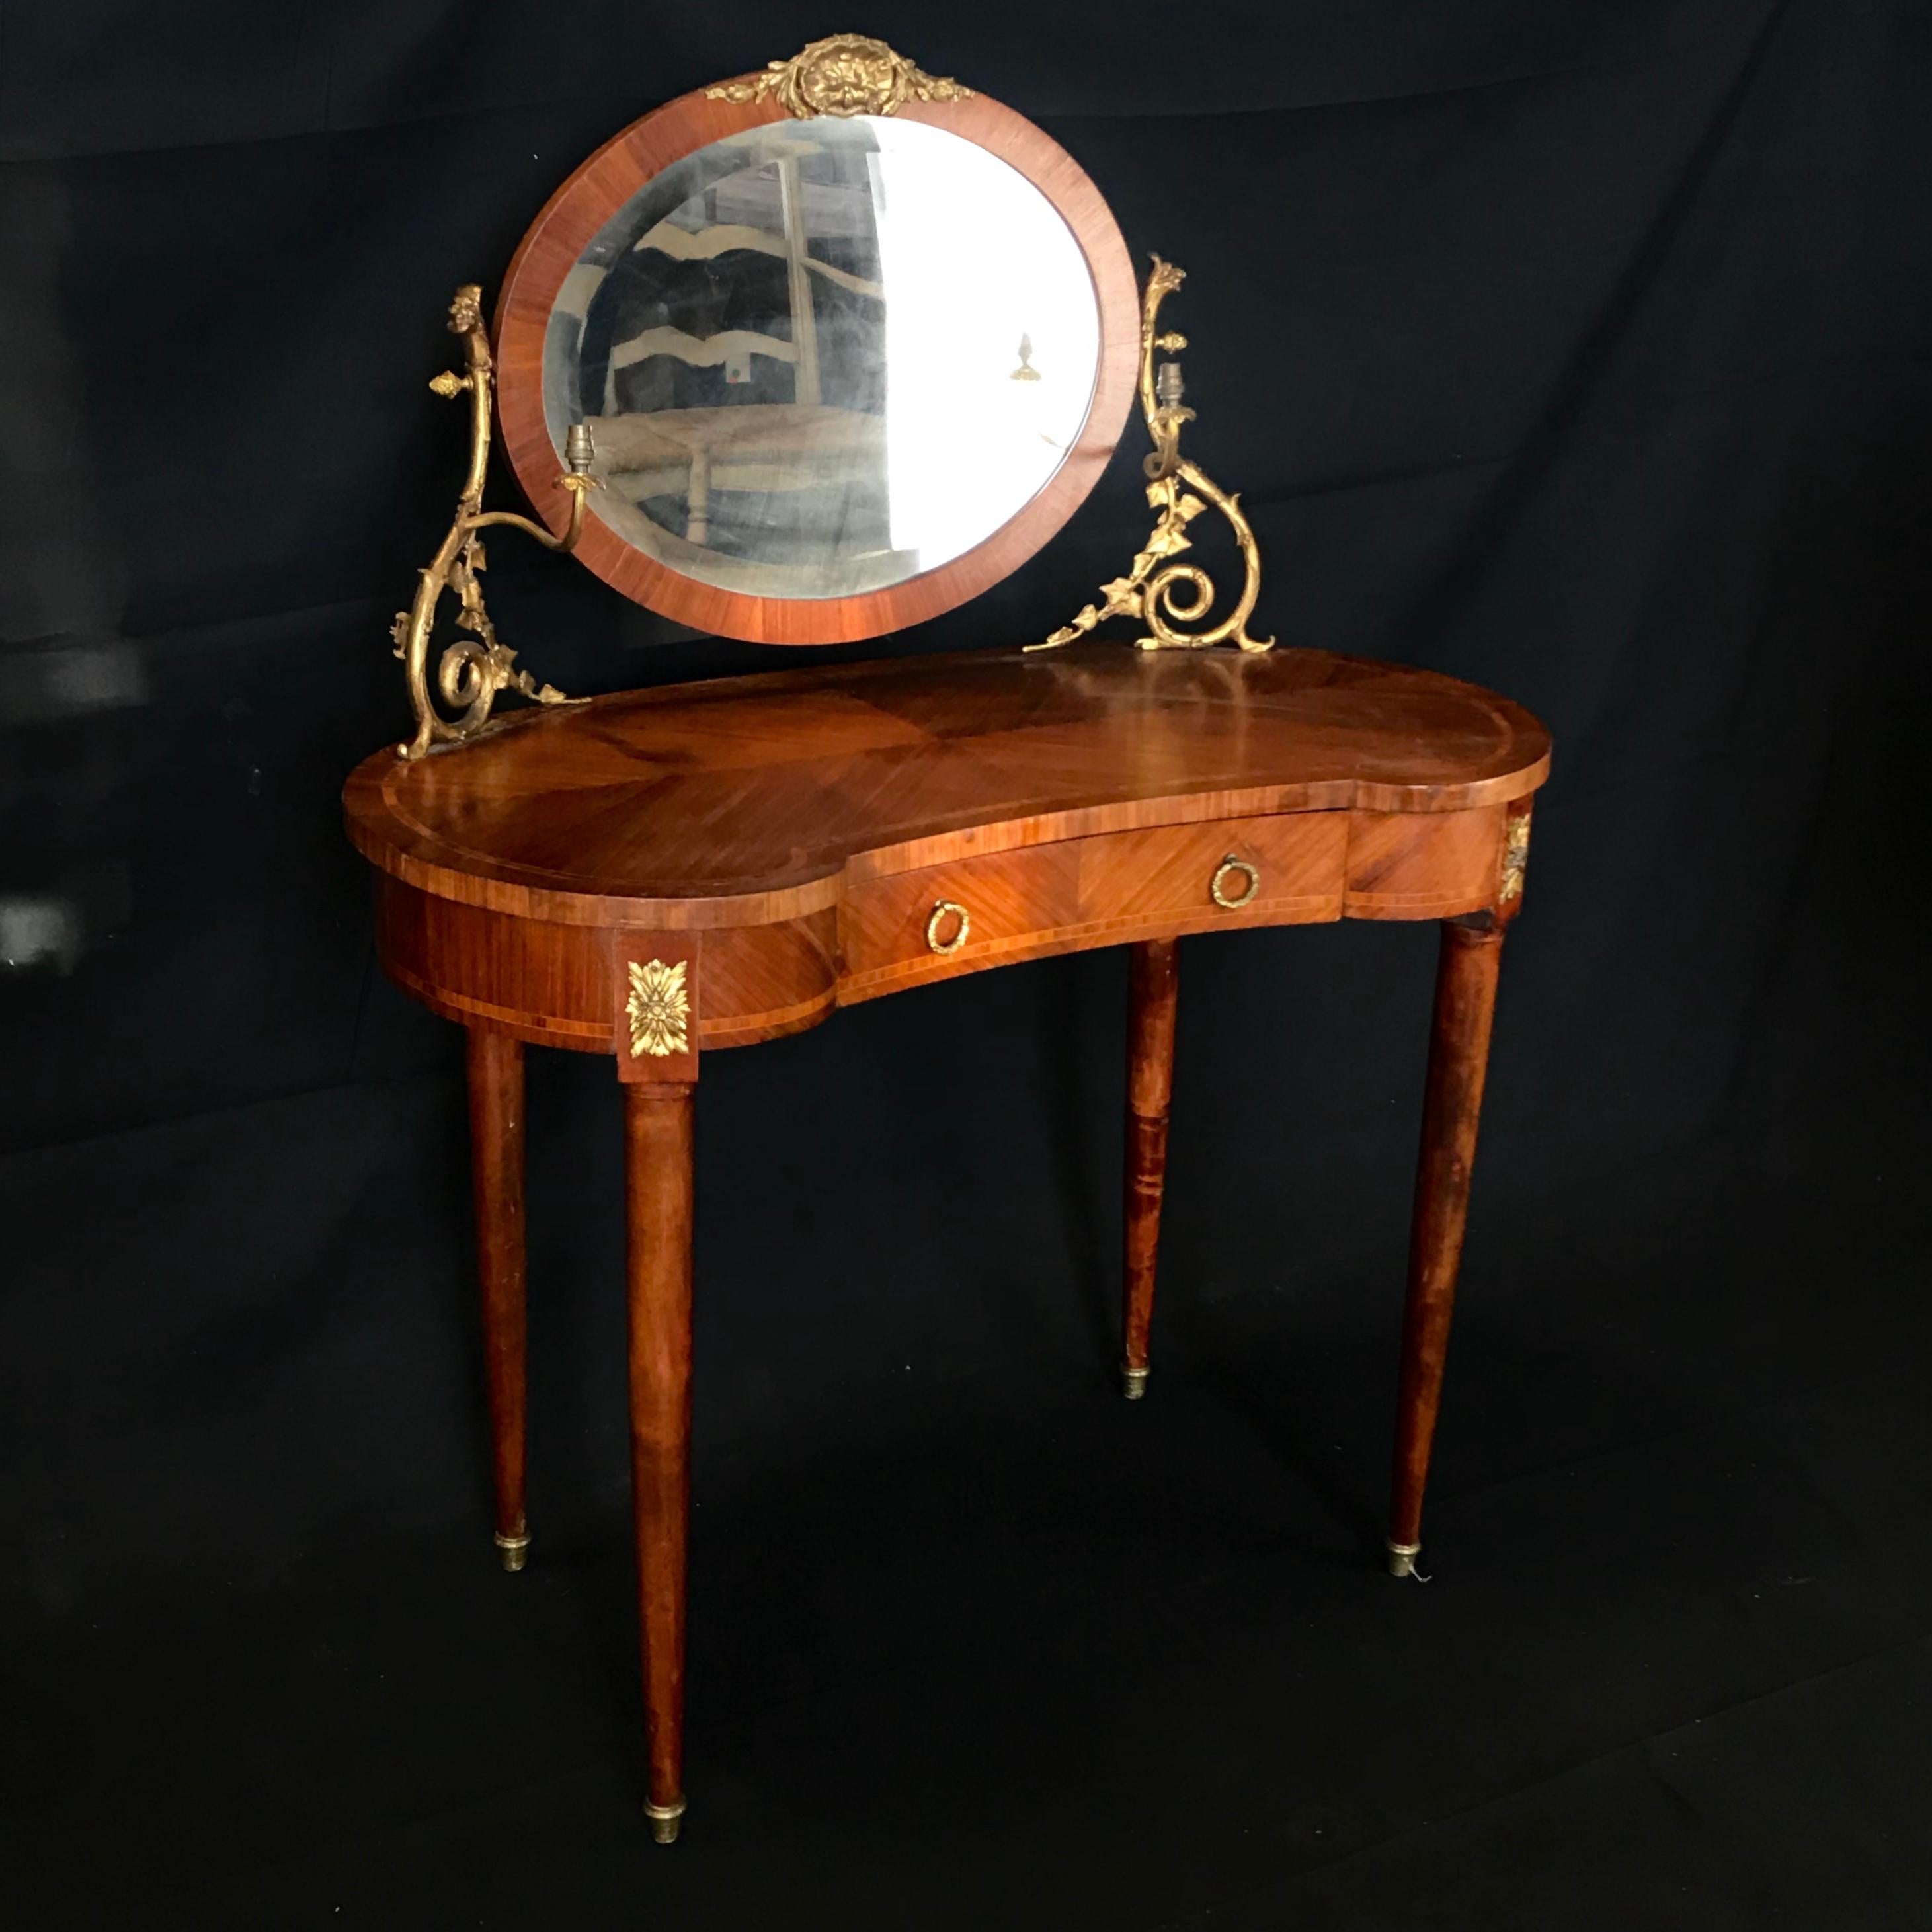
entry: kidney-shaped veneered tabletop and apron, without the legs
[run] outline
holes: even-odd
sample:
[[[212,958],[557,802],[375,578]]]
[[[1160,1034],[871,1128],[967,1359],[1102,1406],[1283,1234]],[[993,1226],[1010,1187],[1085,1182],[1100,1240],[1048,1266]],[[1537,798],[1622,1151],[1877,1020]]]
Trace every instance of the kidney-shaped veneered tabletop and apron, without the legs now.
[[[1430,672],[1094,645],[624,694],[379,755],[346,804],[394,978],[611,1051],[616,952],[651,933],[701,939],[697,1037],[724,1047],[1080,947],[1476,912],[1546,769],[1534,719]],[[1233,910],[1229,854],[1260,877]],[[947,956],[941,898],[972,912]]]

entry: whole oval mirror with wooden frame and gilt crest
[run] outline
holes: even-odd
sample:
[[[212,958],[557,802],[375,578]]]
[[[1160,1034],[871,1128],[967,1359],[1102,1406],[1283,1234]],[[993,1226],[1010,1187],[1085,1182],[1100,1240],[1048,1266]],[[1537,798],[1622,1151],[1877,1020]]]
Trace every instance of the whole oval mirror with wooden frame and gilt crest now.
[[[999,582],[1092,489],[1140,352],[1099,191],[999,102],[815,43],[636,122],[504,284],[504,444],[576,554],[680,622],[877,636]]]

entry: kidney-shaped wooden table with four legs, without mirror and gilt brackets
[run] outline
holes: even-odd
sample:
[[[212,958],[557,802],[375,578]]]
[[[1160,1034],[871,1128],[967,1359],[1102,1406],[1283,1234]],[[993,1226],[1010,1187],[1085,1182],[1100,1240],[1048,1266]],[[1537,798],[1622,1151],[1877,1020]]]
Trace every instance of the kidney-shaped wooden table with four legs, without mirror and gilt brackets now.
[[[1177,939],[1439,920],[1389,1567],[1410,1575],[1503,933],[1549,740],[1519,705],[1320,651],[912,657],[520,713],[344,796],[388,974],[469,1030],[497,1544],[522,1569],[522,1043],[626,1082],[647,1812],[682,1791],[692,1090],[835,1007],[1130,947],[1124,1383],[1148,1378]]]

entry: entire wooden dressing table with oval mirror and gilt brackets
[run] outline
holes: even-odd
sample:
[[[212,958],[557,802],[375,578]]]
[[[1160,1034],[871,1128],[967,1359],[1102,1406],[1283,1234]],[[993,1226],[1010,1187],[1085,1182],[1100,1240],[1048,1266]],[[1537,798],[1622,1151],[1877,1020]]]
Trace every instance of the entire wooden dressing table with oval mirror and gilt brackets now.
[[[954,224],[951,267],[910,234],[935,211]],[[1024,299],[989,317],[972,307],[974,218],[1007,224],[1032,265]],[[468,394],[471,460],[396,622],[417,732],[352,775],[346,817],[377,873],[384,968],[468,1030],[510,1571],[529,1549],[524,1047],[607,1055],[624,1084],[645,1812],[667,1843],[684,1816],[692,1105],[707,1053],[933,980],[1124,947],[1122,1385],[1142,1397],[1179,941],[1439,922],[1389,1522],[1389,1569],[1414,1573],[1497,964],[1549,742],[1453,678],[1248,634],[1254,539],[1238,498],[1180,456],[1192,412],[1159,361],[1184,346],[1157,321],[1177,284],[1155,263],[1136,296],[1105,203],[1039,129],[846,35],[670,102],[585,162],[518,251],[495,340],[475,290],[452,309],[466,371],[433,386]],[[692,371],[717,381],[694,388]],[[514,526],[713,632],[879,636],[1030,556],[1105,466],[1136,388],[1153,535],[1099,603],[1028,649],[572,703],[516,665],[483,605],[479,533]],[[483,510],[493,404],[535,520]],[[736,439],[734,408],[757,412]],[[964,481],[920,456],[949,415],[985,429],[987,462]],[[736,468],[717,454],[734,446]],[[1211,580],[1177,560],[1209,510],[1242,572],[1211,624]],[[433,674],[444,595],[468,636]],[[1105,641],[1121,616],[1142,636]],[[498,717],[504,694],[537,703]]]

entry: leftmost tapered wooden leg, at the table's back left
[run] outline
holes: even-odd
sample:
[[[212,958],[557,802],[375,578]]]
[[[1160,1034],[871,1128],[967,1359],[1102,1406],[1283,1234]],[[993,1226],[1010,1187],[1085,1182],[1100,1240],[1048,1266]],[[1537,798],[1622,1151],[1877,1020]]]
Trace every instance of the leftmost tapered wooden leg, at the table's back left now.
[[[529,1553],[524,1515],[524,1043],[475,1026],[468,1037],[469,1180],[497,1472],[497,1553],[506,1571],[520,1571]]]

